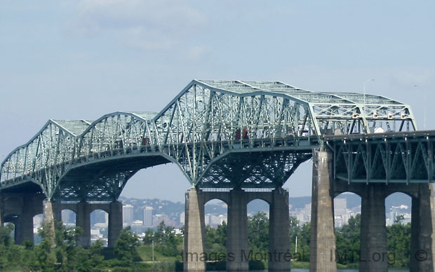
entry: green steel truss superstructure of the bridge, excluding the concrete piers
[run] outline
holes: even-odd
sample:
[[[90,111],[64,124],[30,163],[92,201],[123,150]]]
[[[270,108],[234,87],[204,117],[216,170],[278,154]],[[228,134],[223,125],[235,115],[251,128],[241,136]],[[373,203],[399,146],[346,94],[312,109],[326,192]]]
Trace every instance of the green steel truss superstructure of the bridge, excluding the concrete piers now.
[[[48,121],[1,163],[0,189],[112,201],[163,163],[201,188],[276,188],[318,148],[347,182],[433,182],[435,132],[415,130],[408,104],[379,95],[194,80],[159,113]]]

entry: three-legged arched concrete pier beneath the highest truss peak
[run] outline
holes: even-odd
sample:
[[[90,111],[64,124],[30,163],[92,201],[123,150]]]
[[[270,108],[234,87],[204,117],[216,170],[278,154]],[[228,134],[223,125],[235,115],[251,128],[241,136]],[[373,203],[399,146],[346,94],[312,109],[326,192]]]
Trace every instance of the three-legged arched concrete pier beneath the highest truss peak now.
[[[228,205],[227,271],[248,271],[252,255],[248,248],[247,207],[255,199],[269,203],[269,254],[272,257],[269,259],[269,270],[290,271],[288,191],[282,188],[274,191],[189,189],[186,193],[185,210],[185,271],[205,269],[206,254],[201,255],[204,252],[205,237],[204,204],[213,199],[220,199]]]

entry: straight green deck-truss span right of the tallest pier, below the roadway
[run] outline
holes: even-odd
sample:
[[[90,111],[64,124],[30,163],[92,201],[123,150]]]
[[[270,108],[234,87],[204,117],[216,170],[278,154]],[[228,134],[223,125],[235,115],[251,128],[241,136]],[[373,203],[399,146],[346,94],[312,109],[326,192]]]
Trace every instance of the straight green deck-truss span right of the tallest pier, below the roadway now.
[[[334,176],[347,182],[435,181],[435,131],[328,137]]]

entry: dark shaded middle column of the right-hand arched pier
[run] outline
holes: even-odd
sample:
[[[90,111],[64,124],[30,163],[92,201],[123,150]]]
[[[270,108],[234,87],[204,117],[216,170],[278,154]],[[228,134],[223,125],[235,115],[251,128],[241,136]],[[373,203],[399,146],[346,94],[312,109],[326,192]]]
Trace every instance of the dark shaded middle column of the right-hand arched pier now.
[[[361,193],[360,259],[361,272],[388,271],[384,184],[367,184]]]

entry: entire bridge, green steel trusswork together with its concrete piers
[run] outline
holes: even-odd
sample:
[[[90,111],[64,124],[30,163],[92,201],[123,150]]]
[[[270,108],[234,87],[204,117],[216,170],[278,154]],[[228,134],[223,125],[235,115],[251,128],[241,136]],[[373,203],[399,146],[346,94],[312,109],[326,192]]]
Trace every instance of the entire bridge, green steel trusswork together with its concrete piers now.
[[[46,222],[76,212],[90,245],[90,213],[109,213],[109,246],[122,228],[123,187],[138,170],[175,163],[192,184],[186,193],[185,271],[204,271],[203,206],[228,205],[227,270],[246,271],[246,205],[269,203],[270,270],[284,258],[288,191],[282,185],[312,159],[310,271],[336,271],[333,198],[361,196],[361,256],[387,252],[384,198],[413,198],[411,271],[434,271],[435,131],[417,131],[408,104],[380,95],[320,93],[279,81],[194,80],[164,109],[114,112],[98,120],[50,120],[1,163],[0,222],[13,222],[15,241],[32,240],[32,217]],[[424,250],[419,261],[413,253]],[[387,271],[387,259],[361,261],[360,271]]]

